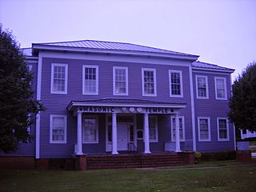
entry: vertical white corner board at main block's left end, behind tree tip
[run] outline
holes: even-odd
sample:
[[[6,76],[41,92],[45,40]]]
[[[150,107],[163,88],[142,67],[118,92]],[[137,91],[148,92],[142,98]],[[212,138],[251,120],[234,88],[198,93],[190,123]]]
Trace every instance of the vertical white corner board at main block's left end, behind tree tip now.
[[[41,101],[42,87],[42,54],[38,54],[37,100]],[[36,114],[35,122],[35,158],[40,158],[40,111]]]

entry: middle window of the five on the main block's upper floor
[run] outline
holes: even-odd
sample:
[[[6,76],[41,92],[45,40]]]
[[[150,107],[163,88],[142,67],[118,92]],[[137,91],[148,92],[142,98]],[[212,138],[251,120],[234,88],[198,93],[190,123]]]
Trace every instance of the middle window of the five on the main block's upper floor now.
[[[114,66],[113,70],[114,95],[128,95],[128,68]]]

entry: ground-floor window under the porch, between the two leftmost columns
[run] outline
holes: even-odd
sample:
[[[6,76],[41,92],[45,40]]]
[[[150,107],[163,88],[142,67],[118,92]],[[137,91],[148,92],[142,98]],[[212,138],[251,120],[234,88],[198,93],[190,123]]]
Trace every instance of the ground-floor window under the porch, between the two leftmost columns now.
[[[82,122],[83,143],[98,143],[98,118],[97,116],[86,116]]]

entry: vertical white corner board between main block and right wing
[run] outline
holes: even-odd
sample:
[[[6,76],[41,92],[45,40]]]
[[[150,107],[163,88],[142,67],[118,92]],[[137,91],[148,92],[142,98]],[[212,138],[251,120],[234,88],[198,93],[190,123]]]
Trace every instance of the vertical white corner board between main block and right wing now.
[[[191,120],[192,120],[192,137],[193,137],[193,150],[197,150],[197,137],[195,133],[195,115],[194,115],[194,83],[193,83],[193,74],[192,67],[190,66],[190,98],[191,98]]]

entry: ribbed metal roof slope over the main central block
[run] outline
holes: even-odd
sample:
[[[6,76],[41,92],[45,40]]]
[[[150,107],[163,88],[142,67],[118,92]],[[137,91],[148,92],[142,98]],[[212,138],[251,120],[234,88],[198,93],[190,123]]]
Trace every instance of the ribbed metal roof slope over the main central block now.
[[[198,56],[193,54],[184,54],[171,50],[163,50],[150,46],[140,46],[132,43],[126,42],[104,42],[95,40],[82,40],[82,41],[72,41],[72,42],[46,42],[46,43],[34,43],[34,45],[41,46],[64,46],[64,47],[76,47],[76,48],[87,48],[95,50],[126,50],[126,51],[136,51],[136,52],[147,52],[155,54],[175,54],[180,56]]]

